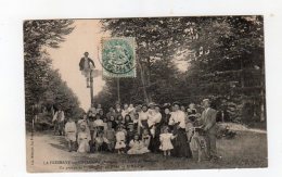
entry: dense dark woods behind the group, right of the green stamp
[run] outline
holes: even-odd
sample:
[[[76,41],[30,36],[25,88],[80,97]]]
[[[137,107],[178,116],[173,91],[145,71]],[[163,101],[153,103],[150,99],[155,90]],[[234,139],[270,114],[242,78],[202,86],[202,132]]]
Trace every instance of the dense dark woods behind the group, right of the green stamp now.
[[[261,16],[121,18],[101,23],[113,37],[137,40],[139,74],[130,87],[120,83],[128,90],[124,92],[127,98],[140,94],[141,87],[146,102],[189,103],[213,98],[221,100],[219,104],[223,100],[235,104],[251,100],[264,106]],[[188,63],[187,72],[177,69],[178,60]],[[114,89],[110,83],[108,89]]]

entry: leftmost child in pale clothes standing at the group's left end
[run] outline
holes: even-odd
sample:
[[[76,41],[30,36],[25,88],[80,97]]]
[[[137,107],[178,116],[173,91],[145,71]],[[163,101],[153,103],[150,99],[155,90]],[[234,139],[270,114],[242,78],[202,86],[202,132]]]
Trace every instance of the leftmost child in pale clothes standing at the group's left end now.
[[[73,121],[73,118],[69,117],[67,123],[65,124],[65,136],[68,142],[68,152],[72,152],[74,150],[76,132],[76,123]]]

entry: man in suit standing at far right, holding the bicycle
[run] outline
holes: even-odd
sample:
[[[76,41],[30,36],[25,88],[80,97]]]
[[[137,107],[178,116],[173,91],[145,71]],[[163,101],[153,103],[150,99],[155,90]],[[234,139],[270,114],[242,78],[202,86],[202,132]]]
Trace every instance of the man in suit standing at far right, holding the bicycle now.
[[[217,160],[216,150],[216,115],[217,111],[210,108],[210,101],[208,99],[203,100],[204,111],[201,116],[203,123],[203,129],[206,132],[206,147],[207,157],[209,160]]]

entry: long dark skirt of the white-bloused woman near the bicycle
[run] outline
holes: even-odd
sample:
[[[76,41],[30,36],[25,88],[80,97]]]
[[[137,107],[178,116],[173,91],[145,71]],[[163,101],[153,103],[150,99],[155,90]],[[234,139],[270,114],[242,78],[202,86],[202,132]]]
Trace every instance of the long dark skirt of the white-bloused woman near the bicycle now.
[[[177,157],[192,157],[192,152],[187,139],[185,129],[175,129],[174,134],[177,135],[177,137],[172,140],[172,155]]]

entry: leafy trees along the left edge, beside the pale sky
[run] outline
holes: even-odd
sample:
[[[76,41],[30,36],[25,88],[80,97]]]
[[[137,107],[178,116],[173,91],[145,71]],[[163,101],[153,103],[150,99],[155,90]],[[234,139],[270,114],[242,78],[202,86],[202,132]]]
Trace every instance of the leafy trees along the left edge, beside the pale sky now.
[[[26,119],[33,118],[33,105],[50,108],[60,103],[66,114],[75,116],[80,112],[79,102],[57,73],[51,67],[52,60],[44,48],[59,48],[60,42],[74,29],[73,21],[25,21],[24,65]],[[77,115],[76,115],[77,116]]]

